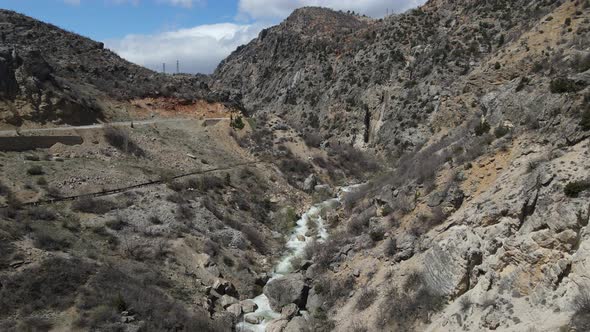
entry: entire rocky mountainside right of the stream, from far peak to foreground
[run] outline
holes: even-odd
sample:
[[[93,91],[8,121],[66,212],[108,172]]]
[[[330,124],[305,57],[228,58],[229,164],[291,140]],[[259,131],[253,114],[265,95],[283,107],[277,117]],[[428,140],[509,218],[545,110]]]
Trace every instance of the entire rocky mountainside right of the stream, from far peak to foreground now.
[[[587,1],[439,0],[383,20],[300,9],[226,59],[213,85],[255,114],[391,161],[310,248],[311,316],[587,330],[589,40]]]

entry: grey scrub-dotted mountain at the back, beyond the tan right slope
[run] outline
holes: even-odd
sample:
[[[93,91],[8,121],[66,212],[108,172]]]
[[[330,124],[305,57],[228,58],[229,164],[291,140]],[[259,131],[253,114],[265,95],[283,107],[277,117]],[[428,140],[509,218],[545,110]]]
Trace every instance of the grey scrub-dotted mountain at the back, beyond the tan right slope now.
[[[477,95],[487,86],[470,74],[494,68],[493,55],[516,45],[560,4],[430,1],[382,20],[303,8],[230,55],[213,86],[232,89],[252,111],[280,110],[291,124],[320,129],[325,139],[409,151],[431,129],[477,111]],[[530,66],[537,59],[528,60]],[[494,76],[485,78],[488,84]],[[461,100],[449,98],[464,92],[470,93]],[[452,118],[441,119],[437,111],[451,102]]]

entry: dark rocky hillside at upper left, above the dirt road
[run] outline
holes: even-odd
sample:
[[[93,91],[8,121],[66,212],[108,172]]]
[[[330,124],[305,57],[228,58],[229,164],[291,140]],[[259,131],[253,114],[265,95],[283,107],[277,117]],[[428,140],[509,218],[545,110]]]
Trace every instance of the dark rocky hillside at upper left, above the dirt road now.
[[[0,10],[1,122],[90,124],[111,100],[204,98],[206,78],[162,75],[129,63],[99,42]]]

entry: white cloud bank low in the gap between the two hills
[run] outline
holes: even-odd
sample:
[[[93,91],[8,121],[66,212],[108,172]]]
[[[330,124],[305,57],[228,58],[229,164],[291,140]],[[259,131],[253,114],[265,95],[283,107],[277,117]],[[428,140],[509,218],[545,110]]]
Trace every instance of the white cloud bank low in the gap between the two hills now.
[[[208,74],[262,28],[261,24],[219,23],[154,35],[128,35],[105,44],[121,57],[150,69],[160,70],[166,63],[166,71],[174,72],[179,60],[182,72]]]

